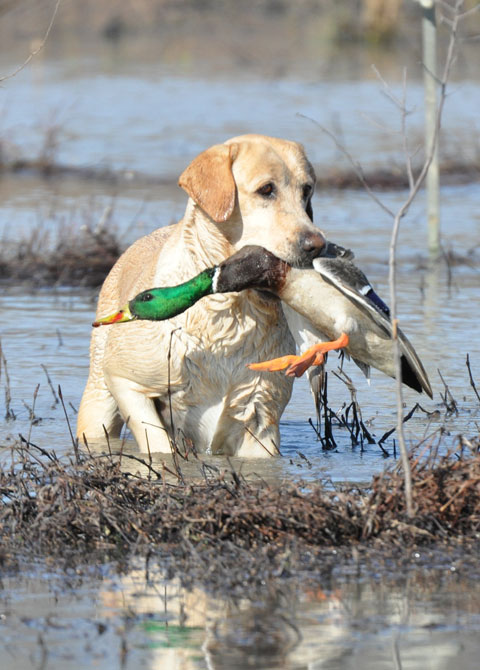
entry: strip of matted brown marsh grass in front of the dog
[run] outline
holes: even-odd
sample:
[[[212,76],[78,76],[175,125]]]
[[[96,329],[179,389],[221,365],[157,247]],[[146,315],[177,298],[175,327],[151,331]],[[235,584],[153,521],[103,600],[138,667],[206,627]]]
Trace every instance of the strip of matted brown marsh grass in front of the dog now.
[[[418,447],[410,457],[414,514],[408,517],[397,464],[366,487],[259,485],[227,462],[224,472],[204,469],[202,475],[199,467],[198,478],[172,484],[151,461],[134,459],[126,471],[118,454],[77,450],[60,459],[21,438],[3,454],[0,469],[0,557],[88,563],[128,561],[165,548],[190,556],[228,548],[236,561],[258,551],[277,559],[288,552],[294,561],[333,548],[464,546],[480,537],[479,452],[480,435],[459,438],[458,449],[442,456],[433,438]],[[135,460],[148,476],[135,471]]]

